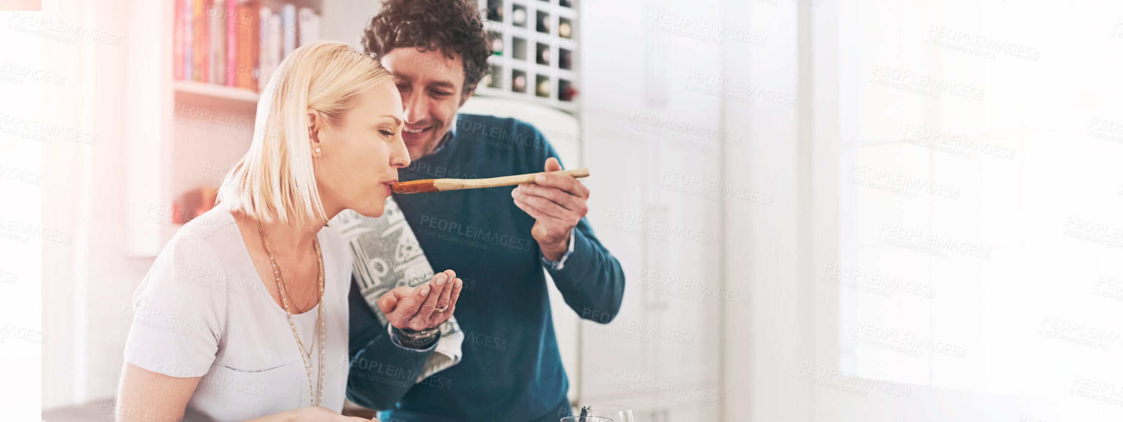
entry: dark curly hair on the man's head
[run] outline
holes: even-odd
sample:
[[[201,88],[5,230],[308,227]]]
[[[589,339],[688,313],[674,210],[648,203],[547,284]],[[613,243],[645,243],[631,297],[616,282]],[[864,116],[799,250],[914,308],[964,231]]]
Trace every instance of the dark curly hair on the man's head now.
[[[487,73],[492,54],[480,11],[466,0],[386,0],[363,31],[363,49],[382,58],[394,48],[440,49],[464,61],[464,95]]]

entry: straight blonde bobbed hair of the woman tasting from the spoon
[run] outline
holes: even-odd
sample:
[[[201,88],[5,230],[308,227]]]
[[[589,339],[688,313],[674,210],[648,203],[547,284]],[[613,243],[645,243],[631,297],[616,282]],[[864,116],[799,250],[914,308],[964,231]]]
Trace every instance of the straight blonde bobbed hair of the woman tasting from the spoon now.
[[[339,126],[358,94],[391,80],[374,58],[340,42],[296,48],[257,102],[254,140],[218,191],[218,203],[258,221],[294,227],[326,221],[312,166],[309,113]]]

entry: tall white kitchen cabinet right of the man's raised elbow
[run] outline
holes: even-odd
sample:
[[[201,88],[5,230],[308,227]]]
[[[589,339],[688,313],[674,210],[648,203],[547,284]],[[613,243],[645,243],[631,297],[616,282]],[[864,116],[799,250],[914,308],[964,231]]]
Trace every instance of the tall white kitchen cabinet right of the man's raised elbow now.
[[[729,189],[718,180],[715,138],[736,137],[711,136],[720,128],[721,100],[685,86],[687,75],[718,75],[720,45],[667,31],[657,17],[718,22],[718,2],[587,1],[581,8],[582,149],[595,175],[585,182],[588,218],[628,282],[612,323],[582,322],[577,402],[632,406],[637,422],[714,421],[718,312],[740,305],[719,302],[721,201],[740,199],[722,195]],[[714,401],[670,386],[704,391]]]

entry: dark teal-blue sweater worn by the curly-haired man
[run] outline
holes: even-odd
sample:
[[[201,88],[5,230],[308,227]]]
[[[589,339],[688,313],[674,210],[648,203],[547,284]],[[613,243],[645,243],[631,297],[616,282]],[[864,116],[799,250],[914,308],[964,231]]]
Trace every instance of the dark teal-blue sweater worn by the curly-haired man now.
[[[535,127],[459,114],[453,136],[399,178],[480,178],[541,172],[557,157]],[[350,296],[347,397],[390,410],[395,421],[557,421],[569,414],[535,219],[514,205],[514,186],[394,194],[433,270],[464,279],[456,319],[464,360],[414,384],[431,351],[394,345],[355,286]],[[547,268],[578,315],[606,322],[623,300],[624,274],[586,219],[562,269]]]

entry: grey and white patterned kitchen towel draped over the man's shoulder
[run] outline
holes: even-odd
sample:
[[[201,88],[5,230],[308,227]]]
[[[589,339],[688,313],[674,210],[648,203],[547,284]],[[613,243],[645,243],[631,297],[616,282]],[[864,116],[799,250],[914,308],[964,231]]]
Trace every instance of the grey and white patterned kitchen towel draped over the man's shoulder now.
[[[386,199],[385,209],[380,218],[344,210],[328,222],[350,246],[359,292],[384,327],[387,321],[376,304],[378,296],[398,286],[419,286],[432,279],[435,274],[393,198]],[[460,350],[463,342],[464,332],[456,323],[456,316],[449,318],[440,325],[440,340],[417,382],[459,364],[464,357]]]

